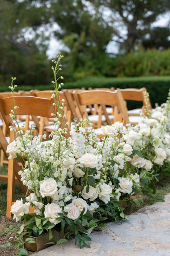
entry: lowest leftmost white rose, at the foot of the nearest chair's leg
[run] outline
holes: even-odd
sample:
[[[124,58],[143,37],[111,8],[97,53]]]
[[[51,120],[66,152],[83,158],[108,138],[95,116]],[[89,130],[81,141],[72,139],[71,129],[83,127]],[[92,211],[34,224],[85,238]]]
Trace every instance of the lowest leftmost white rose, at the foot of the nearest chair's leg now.
[[[14,214],[14,220],[20,221],[24,214],[29,212],[30,203],[23,203],[23,199],[16,200],[16,202],[11,206],[11,212]]]

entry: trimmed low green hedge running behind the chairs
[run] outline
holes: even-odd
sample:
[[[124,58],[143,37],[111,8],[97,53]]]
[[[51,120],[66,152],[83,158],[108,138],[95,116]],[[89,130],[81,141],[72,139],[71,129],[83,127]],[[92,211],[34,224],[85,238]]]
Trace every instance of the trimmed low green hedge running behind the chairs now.
[[[148,77],[104,77],[104,76],[88,76],[77,80],[75,82],[65,82],[64,88],[81,88],[89,87],[93,88],[102,88],[102,87],[117,87],[121,89],[125,88],[142,88],[146,87],[148,93],[150,94],[150,100],[152,107],[155,107],[155,103],[159,105],[164,103],[167,98],[167,94],[170,89],[170,76],[148,76]],[[37,86],[28,86],[20,85],[17,87],[18,90],[47,90],[53,89],[53,85],[37,85]],[[8,91],[8,87],[0,87],[0,91]],[[128,108],[141,107],[141,104],[137,102],[130,102]]]

